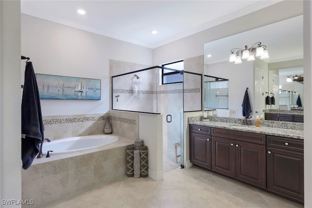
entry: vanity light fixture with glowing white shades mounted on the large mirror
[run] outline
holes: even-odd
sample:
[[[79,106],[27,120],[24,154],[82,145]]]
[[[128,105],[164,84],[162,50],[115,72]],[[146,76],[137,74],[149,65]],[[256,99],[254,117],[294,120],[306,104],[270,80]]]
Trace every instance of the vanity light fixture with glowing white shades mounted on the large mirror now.
[[[242,63],[241,59],[247,59],[247,61],[254,61],[254,57],[259,57],[260,59],[269,58],[267,51],[267,46],[261,45],[261,42],[256,42],[251,48],[245,45],[245,49],[233,48],[231,49],[230,62],[234,64]]]

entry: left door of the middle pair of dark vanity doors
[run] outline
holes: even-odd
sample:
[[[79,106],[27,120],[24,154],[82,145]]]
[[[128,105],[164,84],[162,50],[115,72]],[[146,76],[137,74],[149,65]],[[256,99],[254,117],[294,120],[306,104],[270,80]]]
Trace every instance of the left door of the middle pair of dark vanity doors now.
[[[235,140],[212,136],[212,170],[235,177]]]

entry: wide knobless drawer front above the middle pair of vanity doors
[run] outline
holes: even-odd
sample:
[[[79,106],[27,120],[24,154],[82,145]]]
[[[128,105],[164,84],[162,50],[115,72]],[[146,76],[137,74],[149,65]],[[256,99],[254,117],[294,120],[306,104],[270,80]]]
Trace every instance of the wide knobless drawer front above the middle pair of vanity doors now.
[[[252,142],[255,144],[265,145],[265,134],[240,132],[228,129],[212,128],[211,134],[223,138],[236,139],[244,142]]]

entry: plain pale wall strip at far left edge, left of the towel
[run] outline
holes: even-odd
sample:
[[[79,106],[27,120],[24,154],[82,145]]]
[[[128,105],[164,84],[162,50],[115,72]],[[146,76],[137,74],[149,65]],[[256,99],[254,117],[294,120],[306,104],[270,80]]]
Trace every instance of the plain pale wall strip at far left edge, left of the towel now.
[[[20,200],[20,1],[0,1],[0,32],[0,199]]]

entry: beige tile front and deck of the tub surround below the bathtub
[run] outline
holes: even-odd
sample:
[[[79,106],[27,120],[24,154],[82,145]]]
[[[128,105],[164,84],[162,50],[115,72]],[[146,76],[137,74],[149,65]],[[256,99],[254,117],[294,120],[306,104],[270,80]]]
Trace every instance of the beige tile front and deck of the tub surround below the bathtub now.
[[[39,207],[54,200],[109,183],[126,175],[126,146],[133,140],[119,137],[98,150],[35,159],[21,170],[22,199],[33,199]],[[23,206],[27,208],[27,206]]]

